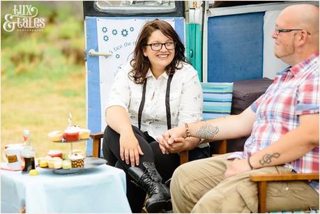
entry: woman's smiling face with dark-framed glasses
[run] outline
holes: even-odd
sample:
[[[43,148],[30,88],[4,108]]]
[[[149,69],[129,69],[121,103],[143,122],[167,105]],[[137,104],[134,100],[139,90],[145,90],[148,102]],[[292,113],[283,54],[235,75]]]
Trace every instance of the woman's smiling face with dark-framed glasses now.
[[[159,43],[166,43],[166,45]],[[155,30],[148,38],[147,44],[144,48],[144,56],[147,56],[151,63],[151,70],[165,71],[165,68],[174,59],[174,40],[165,36],[160,30]],[[152,49],[150,44],[153,44]]]

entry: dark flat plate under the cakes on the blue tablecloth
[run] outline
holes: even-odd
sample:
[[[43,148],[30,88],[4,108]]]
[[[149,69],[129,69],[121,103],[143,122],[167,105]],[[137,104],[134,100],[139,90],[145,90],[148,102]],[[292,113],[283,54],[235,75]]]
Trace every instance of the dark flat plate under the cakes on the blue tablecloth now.
[[[105,165],[107,160],[103,158],[84,158],[84,167],[81,168],[71,168],[71,169],[52,169],[54,174],[74,174],[82,171],[86,171],[87,169],[93,169],[100,165]],[[43,168],[50,169],[50,168]]]

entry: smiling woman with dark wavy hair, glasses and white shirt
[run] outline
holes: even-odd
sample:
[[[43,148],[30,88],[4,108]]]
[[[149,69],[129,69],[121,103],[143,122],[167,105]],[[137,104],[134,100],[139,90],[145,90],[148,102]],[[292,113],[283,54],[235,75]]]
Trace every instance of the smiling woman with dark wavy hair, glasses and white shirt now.
[[[147,22],[137,39],[133,59],[117,73],[107,99],[108,125],[102,151],[109,165],[125,171],[133,213],[142,211],[146,192],[149,213],[170,208],[169,190],[162,181],[171,178],[178,167],[178,152],[191,150],[190,160],[209,155],[208,147],[197,147],[197,138],[176,142],[170,151],[163,147],[161,151],[155,141],[165,130],[199,121],[202,116],[201,85],[184,52],[169,23]],[[128,172],[146,192],[130,182]]]

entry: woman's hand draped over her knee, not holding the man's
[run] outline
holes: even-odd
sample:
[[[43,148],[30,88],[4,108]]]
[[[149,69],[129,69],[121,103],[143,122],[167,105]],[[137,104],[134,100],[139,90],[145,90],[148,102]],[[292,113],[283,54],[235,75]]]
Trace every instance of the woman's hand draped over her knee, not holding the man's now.
[[[139,155],[144,155],[140,148],[139,142],[132,133],[120,135],[120,157],[131,167],[139,165]]]

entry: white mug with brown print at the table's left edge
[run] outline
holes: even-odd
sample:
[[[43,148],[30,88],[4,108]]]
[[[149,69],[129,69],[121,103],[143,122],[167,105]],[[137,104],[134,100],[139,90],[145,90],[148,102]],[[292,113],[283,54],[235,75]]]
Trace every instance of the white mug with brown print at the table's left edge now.
[[[2,152],[3,160],[10,169],[22,169],[21,145],[8,145]]]

